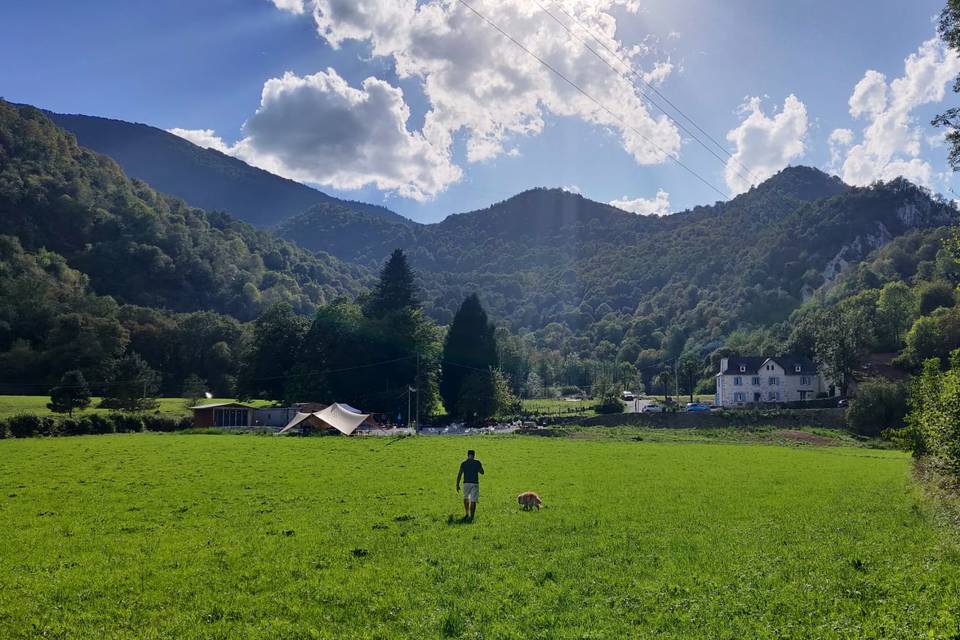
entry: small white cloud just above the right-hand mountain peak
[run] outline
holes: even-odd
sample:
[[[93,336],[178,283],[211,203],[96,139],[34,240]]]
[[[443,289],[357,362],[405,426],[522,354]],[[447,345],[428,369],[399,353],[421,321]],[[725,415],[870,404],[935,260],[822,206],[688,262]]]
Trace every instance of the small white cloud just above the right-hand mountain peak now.
[[[734,193],[746,191],[801,157],[808,129],[807,107],[793,94],[772,116],[763,112],[757,97],[748,98],[741,112],[743,121],[727,133],[736,151],[724,174]]]

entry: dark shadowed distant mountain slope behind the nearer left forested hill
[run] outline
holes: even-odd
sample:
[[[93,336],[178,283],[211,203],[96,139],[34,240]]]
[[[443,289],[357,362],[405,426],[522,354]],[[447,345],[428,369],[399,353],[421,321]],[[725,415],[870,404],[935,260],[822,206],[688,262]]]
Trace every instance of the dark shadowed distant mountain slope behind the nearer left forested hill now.
[[[113,158],[128,176],[191,206],[227,211],[257,226],[277,224],[318,203],[405,220],[384,207],[334,198],[163,129],[94,116],[47,115],[73,133],[80,145]]]

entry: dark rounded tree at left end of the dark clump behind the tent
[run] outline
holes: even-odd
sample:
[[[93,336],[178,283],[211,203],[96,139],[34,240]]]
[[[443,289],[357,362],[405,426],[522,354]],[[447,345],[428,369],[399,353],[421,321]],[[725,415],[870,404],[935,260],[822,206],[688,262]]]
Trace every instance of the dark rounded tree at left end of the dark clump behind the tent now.
[[[300,357],[309,321],[279,303],[253,323],[253,340],[244,356],[238,392],[242,398],[281,399],[286,376]]]

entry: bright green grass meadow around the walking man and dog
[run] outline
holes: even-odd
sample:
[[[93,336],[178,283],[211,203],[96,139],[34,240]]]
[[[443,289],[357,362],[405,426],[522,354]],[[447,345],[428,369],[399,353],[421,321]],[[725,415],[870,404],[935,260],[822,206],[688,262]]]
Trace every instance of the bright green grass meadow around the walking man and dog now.
[[[487,473],[459,521],[457,464]],[[541,512],[515,496],[539,491]],[[0,441],[2,638],[954,638],[902,453],[573,438]]]

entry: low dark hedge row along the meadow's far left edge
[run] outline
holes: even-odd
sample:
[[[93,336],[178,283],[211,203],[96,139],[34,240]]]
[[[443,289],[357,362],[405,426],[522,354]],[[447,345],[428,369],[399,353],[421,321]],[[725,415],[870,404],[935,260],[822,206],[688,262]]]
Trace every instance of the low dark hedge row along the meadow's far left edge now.
[[[135,433],[139,431],[180,431],[192,426],[190,418],[124,413],[90,414],[69,418],[18,414],[0,420],[0,438],[33,436],[82,436],[99,433]]]

